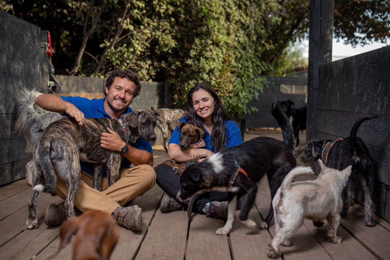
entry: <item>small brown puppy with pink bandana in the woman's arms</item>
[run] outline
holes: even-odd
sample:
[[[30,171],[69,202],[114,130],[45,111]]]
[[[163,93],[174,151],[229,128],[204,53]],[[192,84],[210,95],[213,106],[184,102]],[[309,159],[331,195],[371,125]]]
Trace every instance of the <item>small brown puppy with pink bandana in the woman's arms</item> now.
[[[186,124],[186,122],[179,122],[177,124],[176,131],[179,131],[180,128],[180,141],[179,141],[179,147],[181,149],[187,149],[190,148],[200,148],[205,146],[203,136],[204,131],[196,126]],[[194,158],[193,160],[199,160],[200,158]],[[177,163],[172,160],[166,160],[162,162],[161,164],[154,167],[156,169],[160,165],[168,165],[171,166],[173,171],[181,176],[181,173],[184,171],[185,166],[184,163]]]

